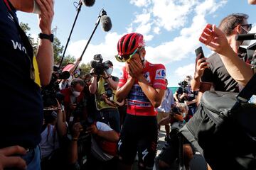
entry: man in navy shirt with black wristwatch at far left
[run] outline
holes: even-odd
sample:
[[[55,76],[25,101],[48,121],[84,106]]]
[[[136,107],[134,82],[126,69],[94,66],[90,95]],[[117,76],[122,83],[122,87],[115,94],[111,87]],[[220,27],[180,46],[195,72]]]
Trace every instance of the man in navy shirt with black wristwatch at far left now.
[[[38,16],[41,40],[36,60],[16,16],[16,11],[31,13],[35,8],[41,11]],[[1,0],[0,16],[0,94],[4,96],[1,100],[0,148],[24,147],[27,152],[21,157],[26,161],[27,169],[39,169],[43,101],[40,87],[34,81],[34,70],[38,64],[41,84],[49,83],[53,67],[53,0]]]

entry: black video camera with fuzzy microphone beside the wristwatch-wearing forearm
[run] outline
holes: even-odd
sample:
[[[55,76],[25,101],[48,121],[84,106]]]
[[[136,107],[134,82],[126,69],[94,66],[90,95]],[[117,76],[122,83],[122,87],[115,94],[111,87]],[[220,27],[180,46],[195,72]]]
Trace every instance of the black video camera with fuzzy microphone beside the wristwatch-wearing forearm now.
[[[49,110],[51,106],[57,106],[56,99],[63,101],[64,96],[60,94],[58,79],[68,79],[70,73],[68,71],[61,72],[57,67],[53,67],[53,74],[50,79],[50,84],[42,87],[43,108]]]

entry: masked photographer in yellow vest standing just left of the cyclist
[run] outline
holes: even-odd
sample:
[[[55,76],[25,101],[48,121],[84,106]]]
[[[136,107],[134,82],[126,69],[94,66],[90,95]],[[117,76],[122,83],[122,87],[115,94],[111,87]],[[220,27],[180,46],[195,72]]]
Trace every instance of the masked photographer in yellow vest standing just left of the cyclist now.
[[[102,74],[97,71],[99,68],[92,69],[92,83],[89,86],[89,91],[91,94],[95,94],[96,108],[100,111],[101,117],[99,121],[110,125],[119,133],[120,118],[117,108],[121,103],[117,102],[115,96],[119,79],[111,76],[113,64],[110,60],[105,61],[104,65],[105,69],[102,70]]]

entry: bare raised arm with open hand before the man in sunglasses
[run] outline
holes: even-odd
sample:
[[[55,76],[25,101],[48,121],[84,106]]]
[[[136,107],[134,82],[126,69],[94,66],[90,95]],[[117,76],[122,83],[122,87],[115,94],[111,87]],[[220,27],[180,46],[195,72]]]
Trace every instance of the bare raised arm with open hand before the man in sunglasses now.
[[[252,69],[250,68],[250,65],[240,60],[238,55],[235,54],[228,44],[225,34],[220,29],[216,28],[215,25],[212,26],[208,24],[206,28],[204,28],[199,40],[206,44],[210,50],[220,54],[220,58],[223,61],[225,68],[235,81],[238,81],[242,86],[247,84],[253,76]]]

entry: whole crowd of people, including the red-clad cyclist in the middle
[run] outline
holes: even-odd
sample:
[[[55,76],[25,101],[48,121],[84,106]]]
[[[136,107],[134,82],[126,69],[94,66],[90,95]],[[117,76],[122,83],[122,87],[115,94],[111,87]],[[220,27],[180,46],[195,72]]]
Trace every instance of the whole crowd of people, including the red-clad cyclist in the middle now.
[[[53,6],[53,0],[0,0],[0,169],[132,169],[136,156],[139,169],[192,169],[191,162],[211,169],[186,123],[205,91],[239,92],[255,74],[252,61],[241,60],[242,41],[235,40],[252,28],[249,16],[233,13],[203,29],[199,40],[214,53],[199,54],[193,77],[173,93],[168,68],[146,60],[139,33],[117,42],[120,77],[112,76],[110,60],[82,76],[77,60],[69,78],[53,80],[59,74],[53,70]],[[36,55],[16,11],[40,13]],[[156,157],[161,125],[166,144]]]

